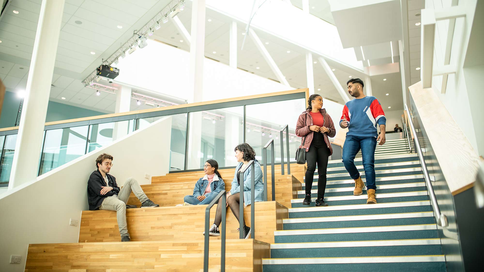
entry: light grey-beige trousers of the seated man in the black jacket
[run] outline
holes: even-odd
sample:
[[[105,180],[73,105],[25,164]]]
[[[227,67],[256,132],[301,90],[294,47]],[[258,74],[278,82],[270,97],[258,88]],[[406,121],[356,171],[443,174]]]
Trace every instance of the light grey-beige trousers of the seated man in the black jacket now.
[[[117,196],[106,197],[99,207],[99,210],[116,211],[121,237],[129,235],[128,224],[126,223],[126,203],[128,202],[131,192],[135,194],[141,203],[148,200],[148,196],[145,195],[141,186],[139,186],[138,181],[131,177],[126,180]]]

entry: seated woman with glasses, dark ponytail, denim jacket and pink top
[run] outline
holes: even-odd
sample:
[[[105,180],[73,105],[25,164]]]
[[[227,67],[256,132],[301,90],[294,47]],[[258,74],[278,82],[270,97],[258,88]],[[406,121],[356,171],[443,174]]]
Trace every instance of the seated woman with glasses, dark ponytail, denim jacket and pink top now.
[[[217,161],[206,161],[203,172],[205,176],[195,183],[193,196],[185,196],[183,206],[209,204],[218,193],[225,191],[225,183],[218,172]]]

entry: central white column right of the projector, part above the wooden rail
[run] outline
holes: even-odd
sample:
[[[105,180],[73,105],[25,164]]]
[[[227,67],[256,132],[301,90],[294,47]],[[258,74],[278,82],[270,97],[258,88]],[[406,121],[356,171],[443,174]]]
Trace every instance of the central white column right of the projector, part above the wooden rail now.
[[[205,0],[192,3],[188,103],[202,101],[203,61],[205,60]],[[192,92],[190,94],[190,92]]]

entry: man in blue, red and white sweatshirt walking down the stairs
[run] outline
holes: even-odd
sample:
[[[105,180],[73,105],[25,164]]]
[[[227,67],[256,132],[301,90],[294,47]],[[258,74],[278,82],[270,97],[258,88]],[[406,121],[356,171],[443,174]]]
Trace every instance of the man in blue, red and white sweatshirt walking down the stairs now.
[[[339,121],[342,128],[348,127],[345,144],[343,145],[343,164],[353,180],[355,180],[354,196],[363,194],[364,182],[355,166],[354,159],[358,151],[362,151],[363,169],[366,178],[368,197],[366,204],[375,204],[375,148],[385,143],[385,113],[374,96],[363,93],[363,81],[351,78],[346,83],[348,93],[355,99],[348,101],[343,107],[343,115]],[[380,127],[378,135],[377,124]],[[377,138],[378,137],[378,138]]]

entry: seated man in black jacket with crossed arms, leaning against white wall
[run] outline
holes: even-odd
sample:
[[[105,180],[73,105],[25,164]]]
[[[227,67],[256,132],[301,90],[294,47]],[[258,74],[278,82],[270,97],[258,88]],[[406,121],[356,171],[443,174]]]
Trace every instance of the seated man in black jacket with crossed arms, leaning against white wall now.
[[[141,207],[160,207],[160,205],[154,204],[148,199],[133,177],[129,178],[120,190],[116,178],[108,174],[113,166],[112,161],[113,156],[106,153],[99,155],[96,159],[97,170],[91,173],[88,181],[89,210],[116,211],[121,242],[129,242],[126,202],[128,202],[131,192],[139,199]]]

